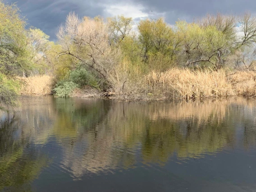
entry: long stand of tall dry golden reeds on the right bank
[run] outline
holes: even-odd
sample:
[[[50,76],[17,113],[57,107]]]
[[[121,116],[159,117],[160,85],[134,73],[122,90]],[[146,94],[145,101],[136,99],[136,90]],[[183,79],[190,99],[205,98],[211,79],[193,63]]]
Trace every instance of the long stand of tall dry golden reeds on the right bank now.
[[[187,100],[256,96],[255,80],[256,72],[227,74],[224,70],[169,69],[164,73],[152,71],[146,76],[153,94]]]

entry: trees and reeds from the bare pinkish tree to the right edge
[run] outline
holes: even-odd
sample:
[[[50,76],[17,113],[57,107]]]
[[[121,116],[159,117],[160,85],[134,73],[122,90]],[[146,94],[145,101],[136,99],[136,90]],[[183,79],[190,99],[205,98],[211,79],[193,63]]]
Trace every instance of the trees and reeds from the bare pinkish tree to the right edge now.
[[[142,20],[137,30],[133,25],[123,16],[71,13],[57,34],[58,57],[69,55],[105,82],[100,88],[125,100],[255,96],[253,88],[241,91],[236,84],[238,71],[247,71],[243,84],[256,87],[256,18],[250,14],[207,15],[174,27],[163,18]]]

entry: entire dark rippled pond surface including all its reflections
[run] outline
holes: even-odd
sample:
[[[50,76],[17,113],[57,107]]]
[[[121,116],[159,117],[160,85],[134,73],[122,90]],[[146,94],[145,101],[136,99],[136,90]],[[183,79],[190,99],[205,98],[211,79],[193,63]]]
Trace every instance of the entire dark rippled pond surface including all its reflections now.
[[[21,102],[0,115],[0,191],[256,191],[256,101]]]

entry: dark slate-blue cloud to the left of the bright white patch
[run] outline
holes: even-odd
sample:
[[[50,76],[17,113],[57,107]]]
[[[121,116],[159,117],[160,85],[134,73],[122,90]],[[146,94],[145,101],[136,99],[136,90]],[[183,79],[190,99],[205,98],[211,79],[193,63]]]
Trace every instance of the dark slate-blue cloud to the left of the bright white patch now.
[[[40,28],[55,40],[58,26],[65,21],[70,11],[80,17],[95,17],[102,15],[104,8],[94,0],[7,0],[16,3],[23,16],[27,18],[28,26]]]

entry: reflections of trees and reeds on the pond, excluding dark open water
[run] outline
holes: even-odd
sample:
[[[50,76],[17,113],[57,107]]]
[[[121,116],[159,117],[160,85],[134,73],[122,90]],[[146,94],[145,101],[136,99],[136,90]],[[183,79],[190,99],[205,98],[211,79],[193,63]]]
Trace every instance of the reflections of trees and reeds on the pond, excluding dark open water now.
[[[256,146],[253,100],[128,103],[23,97],[21,101],[14,117],[1,118],[0,190],[29,188],[42,169],[50,174],[61,169],[79,180]]]

